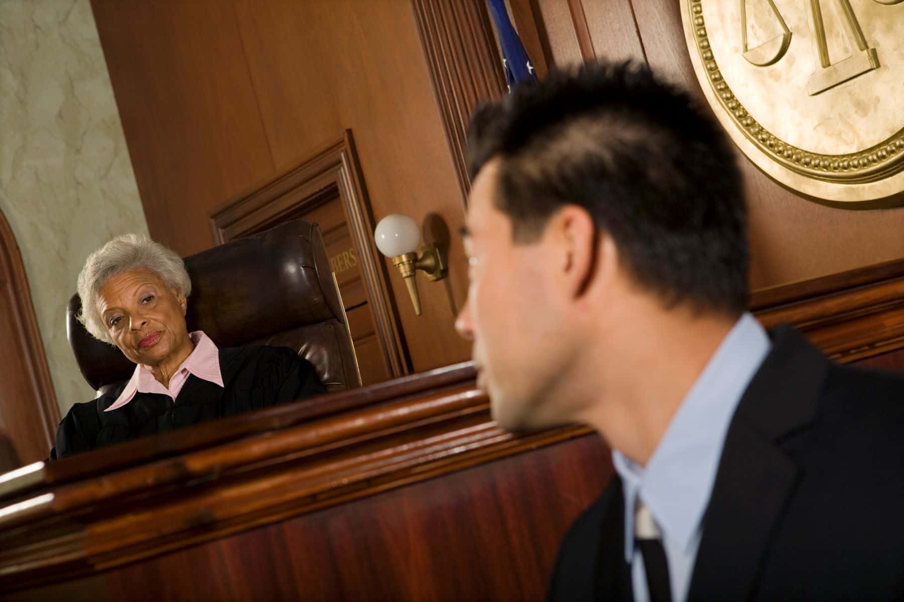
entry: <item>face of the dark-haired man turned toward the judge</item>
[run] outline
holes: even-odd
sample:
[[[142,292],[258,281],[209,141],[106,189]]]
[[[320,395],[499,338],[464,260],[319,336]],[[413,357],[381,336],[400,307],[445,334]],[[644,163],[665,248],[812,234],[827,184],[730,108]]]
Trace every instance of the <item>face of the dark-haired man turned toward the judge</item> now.
[[[557,423],[554,389],[567,357],[566,308],[550,243],[513,243],[510,218],[494,205],[498,162],[474,181],[466,218],[469,286],[456,320],[474,342],[477,384],[490,396],[494,420],[510,431]]]

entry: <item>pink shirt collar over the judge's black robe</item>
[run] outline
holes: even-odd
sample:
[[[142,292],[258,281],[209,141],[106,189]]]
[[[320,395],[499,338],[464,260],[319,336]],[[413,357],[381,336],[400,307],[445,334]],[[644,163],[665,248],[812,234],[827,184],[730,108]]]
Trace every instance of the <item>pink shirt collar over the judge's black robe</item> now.
[[[175,374],[170,378],[168,387],[160,384],[151,371],[145,366],[135,366],[135,372],[128,380],[126,388],[119,394],[117,400],[109,406],[104,412],[111,412],[117,408],[121,408],[132,401],[136,393],[159,393],[169,395],[175,401],[176,396],[182,391],[188,375],[195,375],[205,381],[213,384],[223,385],[222,375],[220,374],[220,350],[210,337],[205,335],[202,330],[195,330],[188,335],[194,343],[194,350]]]

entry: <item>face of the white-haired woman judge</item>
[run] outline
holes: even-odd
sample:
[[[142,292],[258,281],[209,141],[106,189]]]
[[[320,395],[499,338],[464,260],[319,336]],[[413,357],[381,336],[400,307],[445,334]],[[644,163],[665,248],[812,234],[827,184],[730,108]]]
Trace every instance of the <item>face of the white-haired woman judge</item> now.
[[[184,296],[167,288],[152,270],[140,268],[108,278],[99,310],[113,343],[136,364],[159,366],[191,345]]]

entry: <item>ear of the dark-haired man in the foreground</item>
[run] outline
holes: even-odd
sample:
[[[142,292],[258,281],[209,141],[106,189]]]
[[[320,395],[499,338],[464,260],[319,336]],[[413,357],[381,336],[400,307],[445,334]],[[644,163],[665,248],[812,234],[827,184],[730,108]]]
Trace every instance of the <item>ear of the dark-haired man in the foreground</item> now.
[[[572,297],[581,296],[593,280],[598,261],[598,232],[587,209],[566,205],[551,219],[558,238],[560,276]]]

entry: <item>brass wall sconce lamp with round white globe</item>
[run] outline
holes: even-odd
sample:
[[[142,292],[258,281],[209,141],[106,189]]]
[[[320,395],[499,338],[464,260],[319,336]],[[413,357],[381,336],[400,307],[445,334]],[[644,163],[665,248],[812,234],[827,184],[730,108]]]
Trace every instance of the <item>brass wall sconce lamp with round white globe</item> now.
[[[414,274],[422,270],[427,273],[430,281],[442,280],[447,274],[446,257],[433,243],[420,247],[420,253],[416,253],[420,228],[413,219],[399,213],[382,218],[373,231],[373,237],[380,252],[391,257],[392,264],[399,268],[408,287],[414,312],[420,315],[418,283]]]

